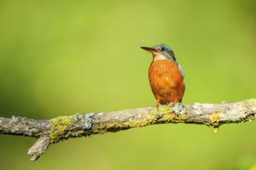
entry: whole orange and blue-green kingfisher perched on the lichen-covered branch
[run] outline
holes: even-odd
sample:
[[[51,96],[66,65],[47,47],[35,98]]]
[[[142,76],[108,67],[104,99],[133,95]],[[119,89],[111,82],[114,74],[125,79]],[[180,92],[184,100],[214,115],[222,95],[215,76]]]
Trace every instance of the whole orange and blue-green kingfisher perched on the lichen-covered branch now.
[[[157,44],[153,47],[141,46],[140,48],[153,55],[148,77],[151,90],[157,100],[156,106],[182,103],[185,74],[182,66],[177,63],[173,50],[166,44]]]

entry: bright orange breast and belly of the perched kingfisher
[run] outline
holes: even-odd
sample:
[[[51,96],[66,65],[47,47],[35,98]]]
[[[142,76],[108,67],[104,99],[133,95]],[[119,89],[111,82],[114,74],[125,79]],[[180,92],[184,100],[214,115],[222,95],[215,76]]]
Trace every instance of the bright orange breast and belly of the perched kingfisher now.
[[[185,84],[178,66],[169,60],[156,60],[149,69],[150,87],[159,104],[182,102]]]

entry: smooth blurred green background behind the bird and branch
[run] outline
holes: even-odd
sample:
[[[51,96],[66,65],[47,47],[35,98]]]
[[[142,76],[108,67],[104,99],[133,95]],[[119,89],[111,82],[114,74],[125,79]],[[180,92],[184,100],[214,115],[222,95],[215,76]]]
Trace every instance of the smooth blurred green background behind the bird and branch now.
[[[0,1],[0,116],[50,119],[156,103],[152,61],[167,43],[185,104],[256,97],[256,1]],[[0,169],[256,168],[256,122],[159,124],[51,145],[0,135]]]

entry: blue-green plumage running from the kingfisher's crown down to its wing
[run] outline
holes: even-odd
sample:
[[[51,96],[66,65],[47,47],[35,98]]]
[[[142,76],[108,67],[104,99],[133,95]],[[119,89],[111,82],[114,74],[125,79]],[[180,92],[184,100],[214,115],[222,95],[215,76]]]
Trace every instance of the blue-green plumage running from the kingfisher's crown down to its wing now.
[[[185,78],[184,71],[182,69],[182,66],[176,62],[175,53],[173,52],[171,47],[169,47],[167,44],[157,44],[157,45],[153,46],[152,48],[157,49],[158,53],[161,53],[161,55],[163,55],[166,58],[170,59],[171,61],[175,62],[175,64],[178,66],[179,71],[182,74],[182,79],[184,80],[184,78]]]

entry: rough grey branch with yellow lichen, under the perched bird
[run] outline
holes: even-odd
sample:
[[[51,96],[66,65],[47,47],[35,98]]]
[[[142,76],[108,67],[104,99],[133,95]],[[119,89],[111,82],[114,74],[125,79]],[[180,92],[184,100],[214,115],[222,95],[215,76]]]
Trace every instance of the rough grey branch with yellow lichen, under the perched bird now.
[[[0,134],[38,138],[29,148],[31,161],[40,158],[49,145],[68,138],[122,131],[150,124],[205,124],[217,131],[220,125],[254,121],[256,99],[227,104],[171,104],[161,107],[142,107],[109,113],[74,114],[51,120],[26,117],[0,117]]]

